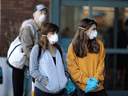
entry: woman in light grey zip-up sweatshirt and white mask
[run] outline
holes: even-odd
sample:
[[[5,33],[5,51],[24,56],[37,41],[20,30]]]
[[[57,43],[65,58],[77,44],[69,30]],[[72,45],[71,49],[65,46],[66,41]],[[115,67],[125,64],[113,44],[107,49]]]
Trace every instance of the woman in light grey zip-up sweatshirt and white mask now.
[[[46,23],[41,28],[41,39],[31,51],[29,66],[35,78],[34,96],[61,96],[66,88],[67,66],[63,50],[57,43],[58,31],[57,25]]]

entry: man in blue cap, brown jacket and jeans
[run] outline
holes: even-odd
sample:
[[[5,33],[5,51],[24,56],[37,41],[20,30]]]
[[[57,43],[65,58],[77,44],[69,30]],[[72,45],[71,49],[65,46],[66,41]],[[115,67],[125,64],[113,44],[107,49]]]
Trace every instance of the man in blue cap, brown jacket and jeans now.
[[[31,23],[33,30],[35,31],[34,36],[30,27],[26,26],[20,32],[20,40],[23,46],[23,52],[27,56],[27,60],[24,64],[24,93],[23,96],[31,96],[32,83],[31,76],[29,72],[29,57],[31,50],[36,42],[41,37],[41,26],[47,21],[48,10],[47,8],[39,4],[35,7],[33,12],[34,21]]]

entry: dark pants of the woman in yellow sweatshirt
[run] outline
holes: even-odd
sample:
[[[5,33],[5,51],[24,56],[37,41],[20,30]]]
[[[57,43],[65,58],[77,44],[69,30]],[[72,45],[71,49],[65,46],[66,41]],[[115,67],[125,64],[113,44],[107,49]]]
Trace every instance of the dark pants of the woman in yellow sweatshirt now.
[[[98,92],[88,92],[88,93],[84,93],[84,96],[108,96],[106,91],[100,90]]]

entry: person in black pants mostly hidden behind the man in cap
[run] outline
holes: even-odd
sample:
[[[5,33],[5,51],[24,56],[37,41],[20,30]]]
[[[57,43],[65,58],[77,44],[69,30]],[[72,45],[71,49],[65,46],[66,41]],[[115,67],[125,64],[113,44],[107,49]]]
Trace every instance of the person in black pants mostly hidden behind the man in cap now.
[[[24,27],[28,26],[33,22],[33,19],[27,19],[23,21],[20,27],[20,32]],[[24,82],[24,71],[13,67],[12,69],[12,82],[13,82],[13,93],[14,96],[23,96],[23,82]]]

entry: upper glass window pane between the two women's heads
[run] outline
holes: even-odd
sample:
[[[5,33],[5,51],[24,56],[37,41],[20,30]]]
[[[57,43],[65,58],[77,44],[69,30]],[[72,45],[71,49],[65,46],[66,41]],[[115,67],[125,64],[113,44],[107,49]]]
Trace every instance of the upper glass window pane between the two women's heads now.
[[[82,18],[88,18],[88,6],[61,6],[61,30],[60,30],[60,44],[67,52],[68,46],[72,38],[78,30],[78,23]]]

